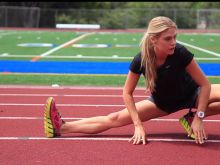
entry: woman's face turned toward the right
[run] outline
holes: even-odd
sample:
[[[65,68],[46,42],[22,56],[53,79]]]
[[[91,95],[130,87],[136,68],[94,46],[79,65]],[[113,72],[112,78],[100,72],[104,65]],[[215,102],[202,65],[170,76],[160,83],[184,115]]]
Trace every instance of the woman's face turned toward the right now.
[[[167,57],[174,53],[176,46],[176,29],[170,28],[162,32],[159,37],[153,37],[154,51],[157,56]]]

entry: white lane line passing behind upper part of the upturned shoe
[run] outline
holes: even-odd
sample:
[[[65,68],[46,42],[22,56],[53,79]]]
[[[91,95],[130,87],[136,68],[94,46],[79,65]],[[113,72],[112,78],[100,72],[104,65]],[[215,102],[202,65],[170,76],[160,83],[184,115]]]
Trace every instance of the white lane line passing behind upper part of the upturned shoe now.
[[[16,104],[16,103],[0,103],[0,106],[44,106],[45,104]],[[56,104],[60,107],[125,107],[125,105],[109,105],[109,104]]]

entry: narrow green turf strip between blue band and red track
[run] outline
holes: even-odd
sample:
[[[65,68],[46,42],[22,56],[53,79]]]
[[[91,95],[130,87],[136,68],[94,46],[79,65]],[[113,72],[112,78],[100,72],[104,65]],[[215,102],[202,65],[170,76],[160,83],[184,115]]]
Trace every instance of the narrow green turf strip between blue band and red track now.
[[[83,74],[0,74],[0,84],[5,85],[52,85],[60,86],[123,86],[126,75],[83,75]],[[208,77],[210,83],[219,84],[220,77]],[[138,86],[145,86],[141,76]]]

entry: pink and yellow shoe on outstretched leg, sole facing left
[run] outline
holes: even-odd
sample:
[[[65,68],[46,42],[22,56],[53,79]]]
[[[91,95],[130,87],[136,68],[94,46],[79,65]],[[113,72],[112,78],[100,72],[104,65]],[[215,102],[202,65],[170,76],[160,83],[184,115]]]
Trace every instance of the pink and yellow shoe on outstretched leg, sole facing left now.
[[[44,133],[48,138],[60,136],[60,127],[64,123],[53,97],[49,97],[44,107]]]

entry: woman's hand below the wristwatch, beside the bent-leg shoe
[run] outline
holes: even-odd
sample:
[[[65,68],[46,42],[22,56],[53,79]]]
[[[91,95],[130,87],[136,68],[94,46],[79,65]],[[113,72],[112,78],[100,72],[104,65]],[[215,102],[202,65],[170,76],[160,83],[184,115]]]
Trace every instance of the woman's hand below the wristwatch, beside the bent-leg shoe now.
[[[204,140],[207,139],[207,135],[205,133],[202,119],[199,119],[197,116],[195,116],[191,128],[191,133],[189,135],[194,133],[196,143],[203,144],[205,142]]]

